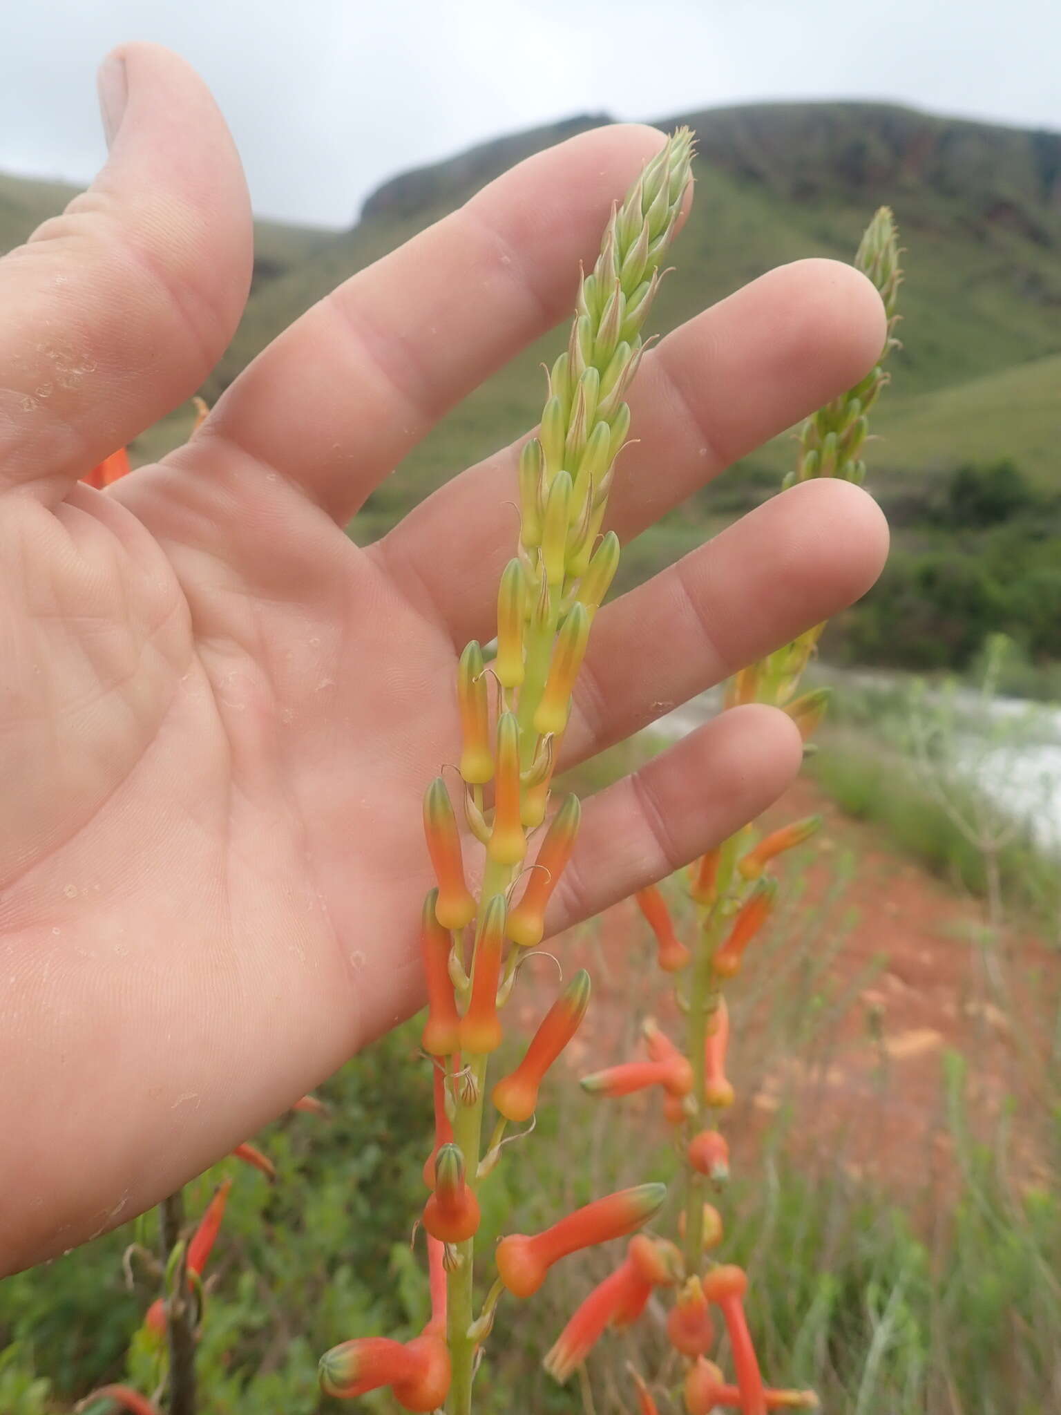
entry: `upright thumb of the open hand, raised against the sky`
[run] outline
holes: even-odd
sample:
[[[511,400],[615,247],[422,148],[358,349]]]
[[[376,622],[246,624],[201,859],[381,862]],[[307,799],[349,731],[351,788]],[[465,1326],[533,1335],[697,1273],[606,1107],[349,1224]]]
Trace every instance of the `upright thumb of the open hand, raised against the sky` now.
[[[243,170],[202,79],[124,44],[99,95],[106,166],[0,260],[0,494],[51,504],[195,392],[250,283]]]

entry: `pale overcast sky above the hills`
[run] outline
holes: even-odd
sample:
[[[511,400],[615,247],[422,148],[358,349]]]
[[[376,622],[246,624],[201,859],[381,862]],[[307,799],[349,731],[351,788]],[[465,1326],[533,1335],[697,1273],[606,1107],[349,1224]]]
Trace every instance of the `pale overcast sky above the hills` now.
[[[256,212],[324,226],[396,171],[583,112],[874,98],[1061,130],[1061,0],[0,4],[0,170],[86,183],[96,64],[156,40],[214,91]]]

